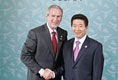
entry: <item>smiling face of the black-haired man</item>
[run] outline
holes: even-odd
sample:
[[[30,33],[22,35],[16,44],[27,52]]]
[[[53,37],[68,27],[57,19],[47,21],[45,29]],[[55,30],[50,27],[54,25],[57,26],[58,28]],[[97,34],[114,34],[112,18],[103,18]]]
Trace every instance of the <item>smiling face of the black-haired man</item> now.
[[[75,19],[72,22],[72,32],[74,36],[79,40],[86,34],[88,26],[85,26],[85,22],[82,19]]]

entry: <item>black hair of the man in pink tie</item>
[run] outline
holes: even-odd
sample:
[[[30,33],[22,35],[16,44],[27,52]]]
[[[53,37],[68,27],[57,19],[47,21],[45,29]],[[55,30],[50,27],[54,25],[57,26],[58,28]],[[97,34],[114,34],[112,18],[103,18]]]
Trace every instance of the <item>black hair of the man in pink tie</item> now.
[[[72,26],[72,24],[73,24],[73,20],[75,20],[75,19],[81,19],[81,20],[83,20],[84,23],[85,23],[85,27],[88,26],[88,19],[87,19],[87,17],[86,17],[85,15],[83,15],[83,14],[75,14],[75,15],[71,18],[71,26]]]

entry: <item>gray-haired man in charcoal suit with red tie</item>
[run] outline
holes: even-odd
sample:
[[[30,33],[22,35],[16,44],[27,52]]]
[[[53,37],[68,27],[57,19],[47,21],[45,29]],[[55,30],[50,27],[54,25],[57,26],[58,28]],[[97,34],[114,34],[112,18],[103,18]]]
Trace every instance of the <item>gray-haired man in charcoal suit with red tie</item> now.
[[[62,8],[51,5],[46,14],[47,23],[29,31],[21,52],[21,60],[28,68],[27,80],[48,79],[53,74],[51,70],[63,63],[62,47],[67,31],[58,27],[62,16]],[[61,80],[61,75],[53,80]]]

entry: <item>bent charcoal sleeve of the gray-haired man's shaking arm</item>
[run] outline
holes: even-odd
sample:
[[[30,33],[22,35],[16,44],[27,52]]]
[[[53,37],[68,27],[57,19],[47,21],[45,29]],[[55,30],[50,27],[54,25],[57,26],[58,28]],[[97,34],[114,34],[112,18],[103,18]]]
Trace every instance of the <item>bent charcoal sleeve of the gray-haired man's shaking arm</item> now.
[[[35,74],[41,69],[35,60],[37,41],[36,35],[31,30],[27,36],[26,42],[21,52],[21,61]]]

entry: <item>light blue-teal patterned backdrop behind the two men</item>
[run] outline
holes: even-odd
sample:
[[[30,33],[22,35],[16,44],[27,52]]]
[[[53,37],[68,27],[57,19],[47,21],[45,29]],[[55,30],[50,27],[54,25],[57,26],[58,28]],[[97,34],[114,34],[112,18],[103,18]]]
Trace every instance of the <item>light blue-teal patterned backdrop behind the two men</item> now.
[[[70,19],[83,13],[89,19],[87,34],[103,44],[102,80],[118,80],[118,0],[0,0],[0,80],[26,80],[20,53],[31,28],[46,22],[51,4],[64,9],[60,27],[73,37]]]

